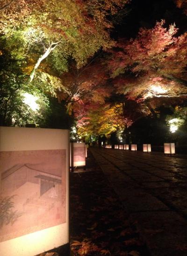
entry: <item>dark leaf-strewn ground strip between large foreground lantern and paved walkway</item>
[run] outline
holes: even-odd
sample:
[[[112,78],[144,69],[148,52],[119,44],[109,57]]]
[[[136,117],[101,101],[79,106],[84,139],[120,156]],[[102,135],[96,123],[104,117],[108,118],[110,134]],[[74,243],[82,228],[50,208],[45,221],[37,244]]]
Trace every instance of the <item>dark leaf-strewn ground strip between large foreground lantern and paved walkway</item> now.
[[[90,159],[90,158],[89,158]],[[94,160],[88,159],[88,165]],[[74,256],[149,256],[136,224],[98,167],[70,175],[70,235]]]

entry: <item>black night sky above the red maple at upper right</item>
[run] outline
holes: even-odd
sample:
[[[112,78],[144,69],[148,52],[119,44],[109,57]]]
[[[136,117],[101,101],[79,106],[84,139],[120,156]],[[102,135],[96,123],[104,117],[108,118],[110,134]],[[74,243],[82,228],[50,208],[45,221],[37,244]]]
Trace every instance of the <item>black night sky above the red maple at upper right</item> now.
[[[127,15],[112,33],[115,39],[135,38],[141,27],[152,28],[162,19],[167,27],[175,23],[178,35],[187,31],[187,16],[173,0],[131,0],[127,7]]]

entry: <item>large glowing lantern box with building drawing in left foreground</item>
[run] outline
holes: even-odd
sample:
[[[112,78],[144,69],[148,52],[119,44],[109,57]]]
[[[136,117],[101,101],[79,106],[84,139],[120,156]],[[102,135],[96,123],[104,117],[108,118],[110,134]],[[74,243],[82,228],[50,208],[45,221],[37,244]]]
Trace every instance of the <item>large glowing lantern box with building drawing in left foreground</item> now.
[[[68,245],[68,177],[68,130],[0,127],[0,255]]]

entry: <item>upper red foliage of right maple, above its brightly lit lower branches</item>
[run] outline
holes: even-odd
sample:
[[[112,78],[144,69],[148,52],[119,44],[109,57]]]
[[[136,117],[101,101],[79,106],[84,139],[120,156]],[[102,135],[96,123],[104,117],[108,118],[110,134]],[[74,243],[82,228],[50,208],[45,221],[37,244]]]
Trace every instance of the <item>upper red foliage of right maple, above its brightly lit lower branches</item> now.
[[[167,30],[162,21],[153,29],[141,29],[136,39],[122,40],[110,62],[112,76],[130,70],[136,77],[149,74],[187,86],[187,33],[174,37],[176,32],[175,25]]]

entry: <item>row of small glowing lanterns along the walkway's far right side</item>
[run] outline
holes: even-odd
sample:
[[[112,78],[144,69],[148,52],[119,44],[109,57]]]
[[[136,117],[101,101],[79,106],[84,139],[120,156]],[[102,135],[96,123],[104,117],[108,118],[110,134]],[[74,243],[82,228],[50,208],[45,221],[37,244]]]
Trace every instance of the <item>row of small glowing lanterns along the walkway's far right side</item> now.
[[[112,145],[106,145],[112,148]],[[129,144],[115,145],[115,149],[129,150]],[[137,151],[137,144],[131,144],[131,151]],[[143,144],[143,152],[151,152],[151,144]],[[175,154],[175,143],[164,143],[164,154]]]

